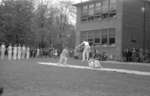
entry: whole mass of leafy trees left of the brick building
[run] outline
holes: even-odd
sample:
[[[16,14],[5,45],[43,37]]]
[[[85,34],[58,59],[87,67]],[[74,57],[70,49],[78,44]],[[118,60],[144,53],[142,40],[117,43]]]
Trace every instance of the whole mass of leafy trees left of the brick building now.
[[[68,14],[75,14],[71,2],[59,7],[30,0],[3,0],[0,5],[0,41],[34,47],[60,47],[74,43],[74,26]],[[73,16],[73,15],[72,15]]]

